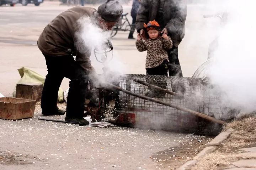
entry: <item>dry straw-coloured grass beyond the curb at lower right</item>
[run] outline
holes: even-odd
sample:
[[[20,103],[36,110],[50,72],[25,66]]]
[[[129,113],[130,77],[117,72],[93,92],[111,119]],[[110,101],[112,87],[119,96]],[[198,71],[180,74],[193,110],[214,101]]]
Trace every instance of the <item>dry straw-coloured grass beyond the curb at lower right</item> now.
[[[240,159],[256,158],[255,156],[241,157],[239,148],[256,144],[256,116],[228,123],[224,130],[234,129],[229,138],[211,154],[198,159],[191,170],[220,170],[228,168],[232,162]]]

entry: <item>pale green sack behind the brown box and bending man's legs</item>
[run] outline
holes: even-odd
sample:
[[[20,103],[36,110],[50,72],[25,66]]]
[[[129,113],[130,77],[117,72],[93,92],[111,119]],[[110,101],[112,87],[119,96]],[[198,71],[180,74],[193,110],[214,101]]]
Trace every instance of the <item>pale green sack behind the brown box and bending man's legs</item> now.
[[[21,79],[17,82],[17,84],[20,84],[20,83],[42,83],[42,84],[44,84],[45,77],[32,71],[31,69],[22,67],[22,68],[18,69],[18,72],[20,73]],[[15,86],[14,92],[12,93],[12,96],[15,97],[15,94],[16,94],[16,86]],[[63,90],[62,90],[62,88],[59,88],[58,102],[62,102],[63,97],[64,97]]]

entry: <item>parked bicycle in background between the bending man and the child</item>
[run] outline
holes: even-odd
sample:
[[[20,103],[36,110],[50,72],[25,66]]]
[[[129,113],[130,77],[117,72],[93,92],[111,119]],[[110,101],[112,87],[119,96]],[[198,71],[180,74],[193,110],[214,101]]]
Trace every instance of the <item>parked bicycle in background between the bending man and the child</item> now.
[[[117,22],[111,29],[111,37],[115,36],[117,34],[117,31],[130,31],[132,29],[135,29],[135,24],[130,24],[127,14],[122,14],[120,17],[119,22]],[[124,20],[124,21],[123,21]],[[128,25],[125,26],[125,24],[128,23]],[[125,26],[125,28],[123,28]],[[127,27],[130,27],[130,29],[127,29]]]

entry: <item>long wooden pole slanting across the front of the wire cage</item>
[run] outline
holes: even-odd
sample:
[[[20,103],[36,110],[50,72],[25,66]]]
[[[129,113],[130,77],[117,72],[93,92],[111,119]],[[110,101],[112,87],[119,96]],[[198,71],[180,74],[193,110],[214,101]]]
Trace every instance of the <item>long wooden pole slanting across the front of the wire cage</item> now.
[[[169,107],[172,107],[172,108],[175,108],[175,109],[178,109],[178,110],[181,110],[181,111],[184,111],[184,112],[187,112],[187,113],[191,113],[193,115],[196,115],[198,117],[201,117],[201,118],[204,118],[204,119],[207,119],[209,121],[213,121],[215,123],[218,123],[218,124],[226,124],[225,121],[222,121],[222,120],[219,120],[219,119],[215,119],[213,117],[210,117],[206,114],[203,114],[203,113],[200,113],[200,112],[196,112],[196,111],[192,111],[190,109],[187,109],[187,108],[184,108],[184,107],[180,107],[180,106],[176,106],[174,104],[171,104],[171,103],[167,103],[167,102],[164,102],[164,101],[160,101],[160,100],[157,100],[155,98],[151,98],[151,97],[147,97],[147,96],[143,96],[143,95],[139,95],[139,94],[136,94],[134,92],[131,92],[131,91],[128,91],[128,90],[125,90],[125,89],[122,89],[118,86],[115,86],[113,84],[110,84],[110,83],[105,83],[106,86],[105,87],[110,87],[112,89],[116,89],[116,90],[119,90],[119,91],[122,91],[124,93],[127,93],[129,95],[132,95],[132,96],[135,96],[135,97],[139,97],[139,98],[142,98],[144,100],[148,100],[148,101],[151,101],[151,102],[155,102],[155,103],[159,103],[159,104],[163,104],[165,106],[169,106]]]

